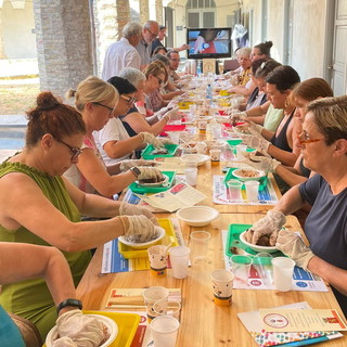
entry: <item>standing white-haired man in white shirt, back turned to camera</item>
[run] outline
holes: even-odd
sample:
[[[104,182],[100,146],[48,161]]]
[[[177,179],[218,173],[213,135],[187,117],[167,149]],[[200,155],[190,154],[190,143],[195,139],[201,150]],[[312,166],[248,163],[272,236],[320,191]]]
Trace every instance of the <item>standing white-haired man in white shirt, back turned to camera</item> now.
[[[142,36],[142,26],[137,22],[129,22],[123,28],[123,38],[112,43],[105,53],[102,68],[102,79],[107,80],[113,76],[118,76],[125,67],[140,69],[141,56],[136,50]]]

